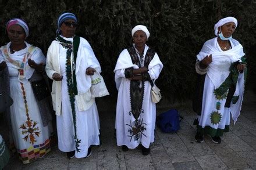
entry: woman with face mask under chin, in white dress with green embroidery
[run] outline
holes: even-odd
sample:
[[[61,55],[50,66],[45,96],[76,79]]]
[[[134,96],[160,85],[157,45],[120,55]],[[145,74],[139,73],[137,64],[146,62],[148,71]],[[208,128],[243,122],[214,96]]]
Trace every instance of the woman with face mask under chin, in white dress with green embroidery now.
[[[221,143],[223,132],[229,132],[230,113],[234,122],[240,115],[246,81],[246,57],[243,46],[232,38],[237,20],[226,17],[214,26],[215,38],[205,42],[197,55],[197,94],[193,109],[198,114],[195,140],[204,142],[204,135]]]

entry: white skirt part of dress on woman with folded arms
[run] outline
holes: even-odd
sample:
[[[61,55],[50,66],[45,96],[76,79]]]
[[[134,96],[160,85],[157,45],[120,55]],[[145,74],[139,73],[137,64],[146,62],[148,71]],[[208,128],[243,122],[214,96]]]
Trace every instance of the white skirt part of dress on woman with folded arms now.
[[[145,82],[143,97],[143,113],[138,117],[138,125],[135,125],[135,118],[131,111],[130,104],[130,81],[123,78],[119,91],[118,103],[116,106],[116,141],[118,146],[126,145],[129,149],[134,149],[138,144],[149,148],[150,143],[155,139],[155,118],[156,107],[151,101],[151,86]]]

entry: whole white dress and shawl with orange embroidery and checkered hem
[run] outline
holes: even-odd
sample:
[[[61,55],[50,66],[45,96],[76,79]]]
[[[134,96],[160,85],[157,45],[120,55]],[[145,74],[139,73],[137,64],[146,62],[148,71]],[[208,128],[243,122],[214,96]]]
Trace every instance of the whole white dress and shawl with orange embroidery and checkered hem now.
[[[8,53],[9,53],[9,45]],[[26,55],[27,50],[30,44],[27,44],[27,47],[15,52],[13,54],[9,53],[9,56],[12,60],[16,60],[17,62],[22,62],[24,55]],[[3,49],[1,49],[3,50]],[[35,48],[31,59],[34,60],[35,63],[45,64],[45,56],[42,54],[41,49]],[[37,102],[35,100],[35,96],[33,93],[33,89],[31,88],[31,84],[28,79],[34,72],[34,69],[29,67],[29,64],[26,60],[26,65],[24,66],[24,78],[18,79],[18,67],[10,63],[6,57],[0,54],[0,63],[2,60],[5,60],[9,69],[9,78],[10,78],[10,97],[13,99],[13,104],[10,106],[10,118],[12,122],[12,133],[13,140],[17,152],[20,154],[20,158],[22,159],[24,164],[29,163],[32,160],[35,160],[38,157],[48,153],[50,149],[50,135],[52,131],[51,123],[47,126],[43,126],[40,111],[38,109]],[[22,84],[21,84],[22,83]],[[23,86],[23,87],[22,87]],[[24,90],[22,90],[24,88]],[[24,94],[23,95],[23,91]],[[24,96],[26,96],[26,103],[28,112],[26,113],[26,105],[24,102]],[[32,128],[29,124],[27,124],[28,119],[31,121],[32,126],[34,126],[33,133],[28,131],[29,127]],[[23,128],[22,128],[23,127]],[[37,136],[35,133],[40,132]],[[27,140],[25,140],[26,136],[29,135]],[[33,142],[34,137],[35,142]]]

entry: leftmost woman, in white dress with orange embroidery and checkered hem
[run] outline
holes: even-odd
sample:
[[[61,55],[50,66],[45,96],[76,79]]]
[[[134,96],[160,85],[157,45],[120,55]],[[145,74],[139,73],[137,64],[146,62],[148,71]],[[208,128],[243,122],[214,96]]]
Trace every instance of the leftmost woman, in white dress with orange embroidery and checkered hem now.
[[[25,41],[29,27],[23,20],[8,21],[6,30],[10,42],[0,50],[0,75],[8,77],[4,82],[9,85],[13,99],[10,106],[13,142],[23,164],[27,164],[51,150],[51,106],[41,102],[48,97],[45,89],[44,93],[35,93],[32,86],[42,80],[46,59],[40,48]]]

